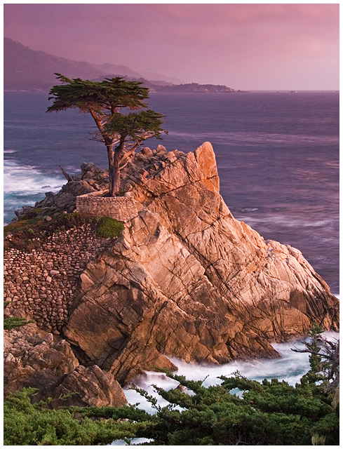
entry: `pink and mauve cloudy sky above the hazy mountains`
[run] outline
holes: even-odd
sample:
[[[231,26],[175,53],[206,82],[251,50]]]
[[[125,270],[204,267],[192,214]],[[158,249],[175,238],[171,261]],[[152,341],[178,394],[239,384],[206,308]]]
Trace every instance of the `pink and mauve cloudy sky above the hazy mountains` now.
[[[339,88],[339,4],[5,4],[4,36],[185,82]]]

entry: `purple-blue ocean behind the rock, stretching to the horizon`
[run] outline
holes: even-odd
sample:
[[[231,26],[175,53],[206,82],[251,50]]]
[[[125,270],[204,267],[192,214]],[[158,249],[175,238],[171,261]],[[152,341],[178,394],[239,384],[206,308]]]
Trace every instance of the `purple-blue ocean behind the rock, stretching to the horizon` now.
[[[46,113],[48,94],[5,92],[4,222],[65,183],[59,166],[107,167],[90,116]],[[169,131],[159,143],[215,149],[220,193],[264,239],[299,248],[339,293],[339,93],[152,93]]]

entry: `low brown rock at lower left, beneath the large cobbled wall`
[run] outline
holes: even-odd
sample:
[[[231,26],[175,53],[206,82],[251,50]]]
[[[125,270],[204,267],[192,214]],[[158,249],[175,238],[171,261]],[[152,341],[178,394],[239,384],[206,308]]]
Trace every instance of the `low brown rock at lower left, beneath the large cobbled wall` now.
[[[68,342],[34,323],[4,333],[4,386],[5,394],[34,387],[33,400],[54,398],[54,408],[127,403],[112,374],[79,365]]]

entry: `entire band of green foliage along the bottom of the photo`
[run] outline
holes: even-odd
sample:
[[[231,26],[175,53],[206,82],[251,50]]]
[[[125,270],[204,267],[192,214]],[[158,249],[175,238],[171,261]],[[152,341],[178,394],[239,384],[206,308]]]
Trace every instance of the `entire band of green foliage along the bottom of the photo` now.
[[[317,350],[311,345],[311,351]],[[166,371],[193,394],[155,387],[169,403],[160,407],[156,398],[137,389],[156,408],[155,415],[135,406],[47,410],[42,403],[32,405],[30,391],[23,390],[5,401],[5,444],[95,445],[145,437],[152,442],[144,445],[311,445],[318,441],[339,445],[338,410],[332,407],[335,391],[325,387],[328,377],[325,382],[315,380],[323,370],[321,363],[316,358],[311,375],[295,387],[277,379],[260,383],[235,373],[206,388],[202,381]],[[236,389],[241,396],[233,394]]]

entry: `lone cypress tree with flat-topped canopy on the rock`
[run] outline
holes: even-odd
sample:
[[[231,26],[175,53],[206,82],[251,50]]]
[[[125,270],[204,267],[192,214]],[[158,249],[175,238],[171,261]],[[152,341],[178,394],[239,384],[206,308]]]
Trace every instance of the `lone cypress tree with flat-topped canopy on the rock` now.
[[[163,115],[147,109],[143,102],[149,98],[149,89],[139,81],[126,81],[116,76],[104,81],[69,79],[55,74],[62,84],[53,86],[48,99],[53,105],[47,112],[76,108],[89,113],[97,126],[94,140],[107,148],[109,163],[109,196],[119,193],[120,170],[130,161],[135,149],[149,138],[161,139]],[[125,114],[123,109],[138,110]]]

